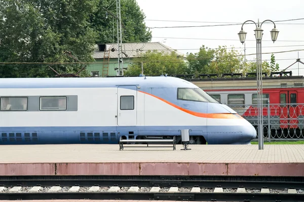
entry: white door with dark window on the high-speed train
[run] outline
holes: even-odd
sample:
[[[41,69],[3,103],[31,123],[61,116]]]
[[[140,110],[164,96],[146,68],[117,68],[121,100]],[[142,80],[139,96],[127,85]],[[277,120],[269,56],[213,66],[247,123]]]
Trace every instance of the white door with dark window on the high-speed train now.
[[[117,90],[117,125],[136,126],[137,123],[137,87],[119,86]]]

